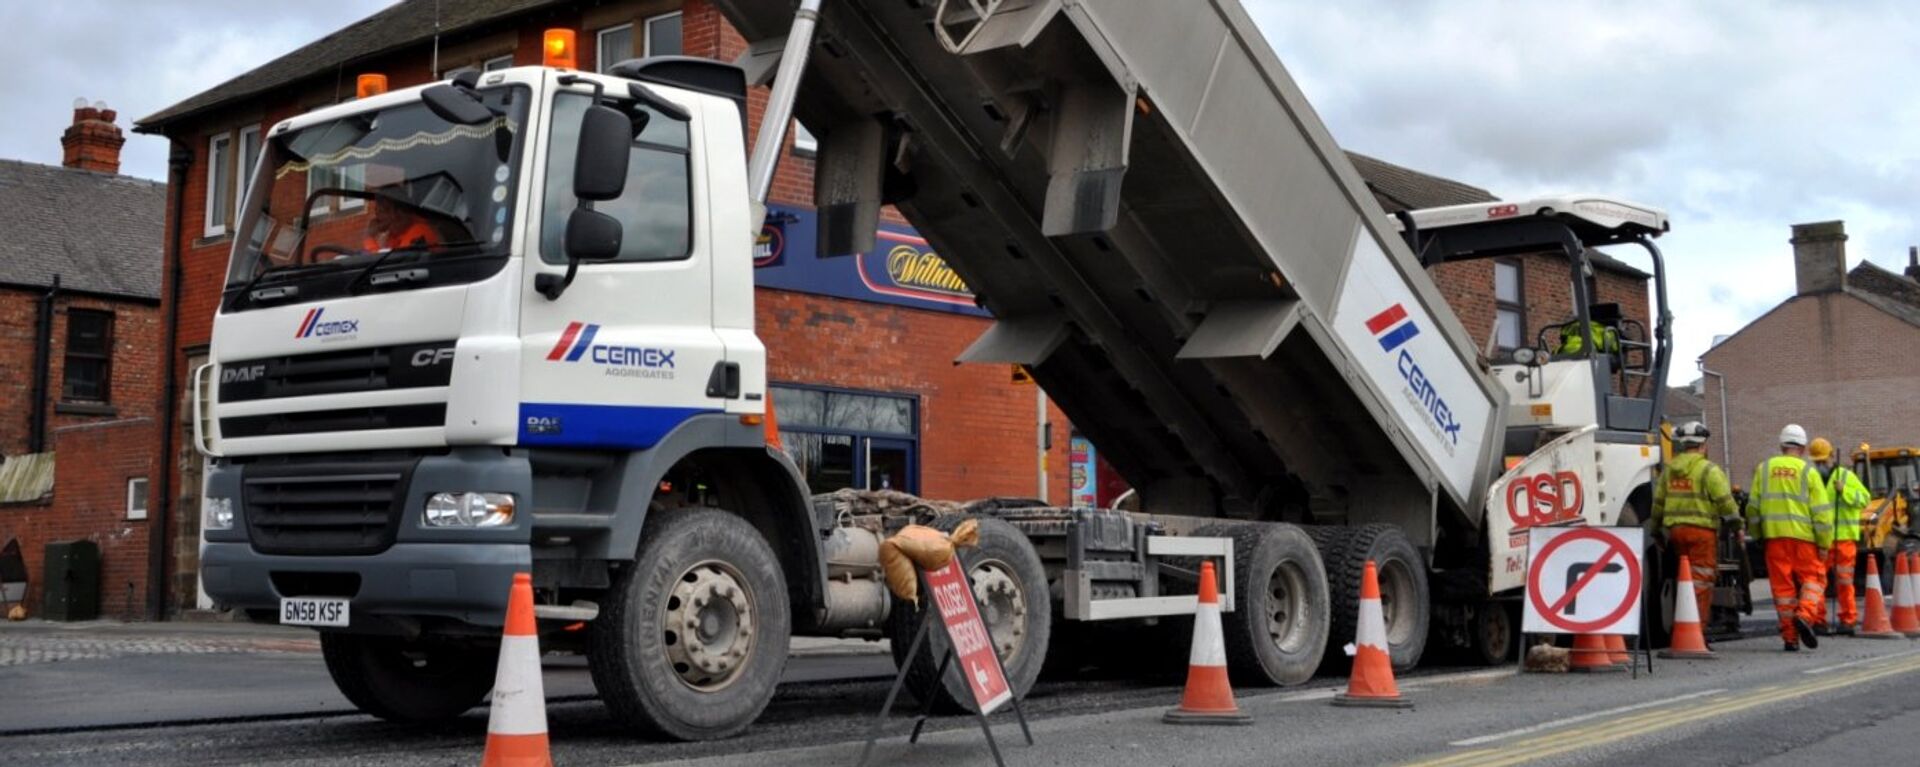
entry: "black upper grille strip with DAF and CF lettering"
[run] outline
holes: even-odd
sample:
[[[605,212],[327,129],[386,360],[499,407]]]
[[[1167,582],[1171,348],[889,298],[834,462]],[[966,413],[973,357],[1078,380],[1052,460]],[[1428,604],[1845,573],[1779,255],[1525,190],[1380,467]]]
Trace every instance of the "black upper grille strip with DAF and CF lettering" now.
[[[445,386],[453,342],[371,346],[221,363],[221,402]]]

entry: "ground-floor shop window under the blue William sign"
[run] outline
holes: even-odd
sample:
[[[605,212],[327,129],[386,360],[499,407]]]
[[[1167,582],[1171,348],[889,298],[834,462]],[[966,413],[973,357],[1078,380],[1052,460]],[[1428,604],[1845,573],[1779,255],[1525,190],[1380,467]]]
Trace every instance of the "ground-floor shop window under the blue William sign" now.
[[[920,419],[906,396],[770,386],[780,444],[812,492],[920,492]]]

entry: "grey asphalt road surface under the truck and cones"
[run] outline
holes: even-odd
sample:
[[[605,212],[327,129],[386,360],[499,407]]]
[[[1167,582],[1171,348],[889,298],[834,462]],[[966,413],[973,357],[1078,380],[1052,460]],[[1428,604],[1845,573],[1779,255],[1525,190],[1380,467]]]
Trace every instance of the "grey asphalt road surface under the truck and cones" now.
[[[351,711],[300,634],[71,644],[0,632],[0,761],[472,765],[486,738],[484,707],[432,729]],[[797,656],[760,721],[708,744],[622,732],[580,663],[549,659],[555,763],[849,765],[887,692],[891,663],[876,650]],[[1425,669],[1402,677],[1415,702],[1404,711],[1329,705],[1340,679],[1238,690],[1254,725],[1233,729],[1162,725],[1179,679],[1041,682],[1025,704],[1035,746],[1010,711],[993,721],[1010,765],[1920,763],[1920,642],[1830,638],[1788,656],[1755,636],[1716,650],[1715,661],[1657,659],[1638,679]],[[991,763],[970,717],[935,719],[908,746],[906,709],[885,723],[874,763]]]

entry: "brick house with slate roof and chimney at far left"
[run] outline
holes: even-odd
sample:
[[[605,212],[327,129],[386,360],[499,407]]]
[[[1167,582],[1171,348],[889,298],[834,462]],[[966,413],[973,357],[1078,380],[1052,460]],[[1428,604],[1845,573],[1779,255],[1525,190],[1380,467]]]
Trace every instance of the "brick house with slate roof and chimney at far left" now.
[[[148,598],[165,186],[117,175],[113,119],[81,102],[60,167],[0,161],[0,544],[29,613],[54,540],[100,546],[106,615]]]

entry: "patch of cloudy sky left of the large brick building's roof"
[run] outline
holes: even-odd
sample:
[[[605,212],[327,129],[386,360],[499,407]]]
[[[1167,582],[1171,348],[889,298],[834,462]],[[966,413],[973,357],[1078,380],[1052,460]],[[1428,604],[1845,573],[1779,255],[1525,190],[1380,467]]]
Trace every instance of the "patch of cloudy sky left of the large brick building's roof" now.
[[[106,102],[127,129],[121,173],[165,179],[167,142],[132,121],[267,63],[394,0],[319,4],[238,0],[12,2],[0,71],[8,119],[0,158],[60,163],[73,100]]]

